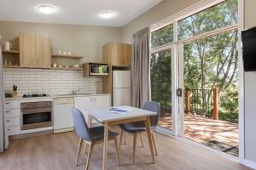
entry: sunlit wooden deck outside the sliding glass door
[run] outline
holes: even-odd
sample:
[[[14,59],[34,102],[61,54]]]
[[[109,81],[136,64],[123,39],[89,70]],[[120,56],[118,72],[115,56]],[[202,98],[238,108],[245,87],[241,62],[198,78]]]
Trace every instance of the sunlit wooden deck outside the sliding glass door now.
[[[172,117],[160,118],[159,125],[168,129],[172,128]],[[202,116],[185,116],[184,137],[200,144],[218,143],[220,147],[234,147],[234,150],[230,151],[235,153],[231,155],[238,156],[239,128],[236,123],[215,121]],[[214,146],[210,147],[214,148]]]

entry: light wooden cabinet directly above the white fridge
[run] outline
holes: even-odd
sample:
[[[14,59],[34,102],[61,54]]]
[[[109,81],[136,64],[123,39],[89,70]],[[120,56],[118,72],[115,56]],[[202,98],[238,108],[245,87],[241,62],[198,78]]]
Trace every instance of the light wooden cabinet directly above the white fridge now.
[[[103,46],[103,63],[113,66],[131,66],[131,44],[109,42]]]

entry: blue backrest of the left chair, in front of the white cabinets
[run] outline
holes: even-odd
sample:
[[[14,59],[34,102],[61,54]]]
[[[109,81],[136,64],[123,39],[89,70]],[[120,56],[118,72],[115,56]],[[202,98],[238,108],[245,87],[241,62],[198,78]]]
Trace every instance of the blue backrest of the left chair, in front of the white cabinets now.
[[[91,141],[92,138],[90,136],[87,123],[84,120],[83,113],[76,108],[73,108],[71,111],[73,115],[73,122],[74,122],[76,133],[79,135],[80,138],[87,141]]]

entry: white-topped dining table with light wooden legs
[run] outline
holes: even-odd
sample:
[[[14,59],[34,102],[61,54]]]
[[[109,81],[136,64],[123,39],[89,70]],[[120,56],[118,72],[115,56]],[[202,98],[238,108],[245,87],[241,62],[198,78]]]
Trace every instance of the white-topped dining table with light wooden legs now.
[[[127,122],[140,122],[144,121],[148,136],[148,143],[152,161],[154,163],[154,151],[153,151],[153,141],[151,137],[150,130],[150,120],[149,116],[157,115],[156,112],[146,111],[143,109],[138,109],[135,107],[123,105],[119,108],[125,108],[128,110],[125,113],[116,113],[109,111],[109,109],[90,109],[87,110],[88,113],[88,125],[91,125],[92,119],[95,119],[97,122],[101,122],[104,125],[104,145],[103,145],[103,163],[102,170],[107,170],[107,152],[108,152],[108,130],[109,126],[119,125]]]

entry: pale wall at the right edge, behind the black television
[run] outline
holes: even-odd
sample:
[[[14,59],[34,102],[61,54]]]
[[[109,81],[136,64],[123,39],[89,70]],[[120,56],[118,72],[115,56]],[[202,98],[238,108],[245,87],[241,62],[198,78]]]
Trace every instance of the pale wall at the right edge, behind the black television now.
[[[245,28],[256,26],[256,1],[244,1]],[[256,56],[255,56],[256,57]],[[245,161],[256,169],[256,72],[245,72]]]

